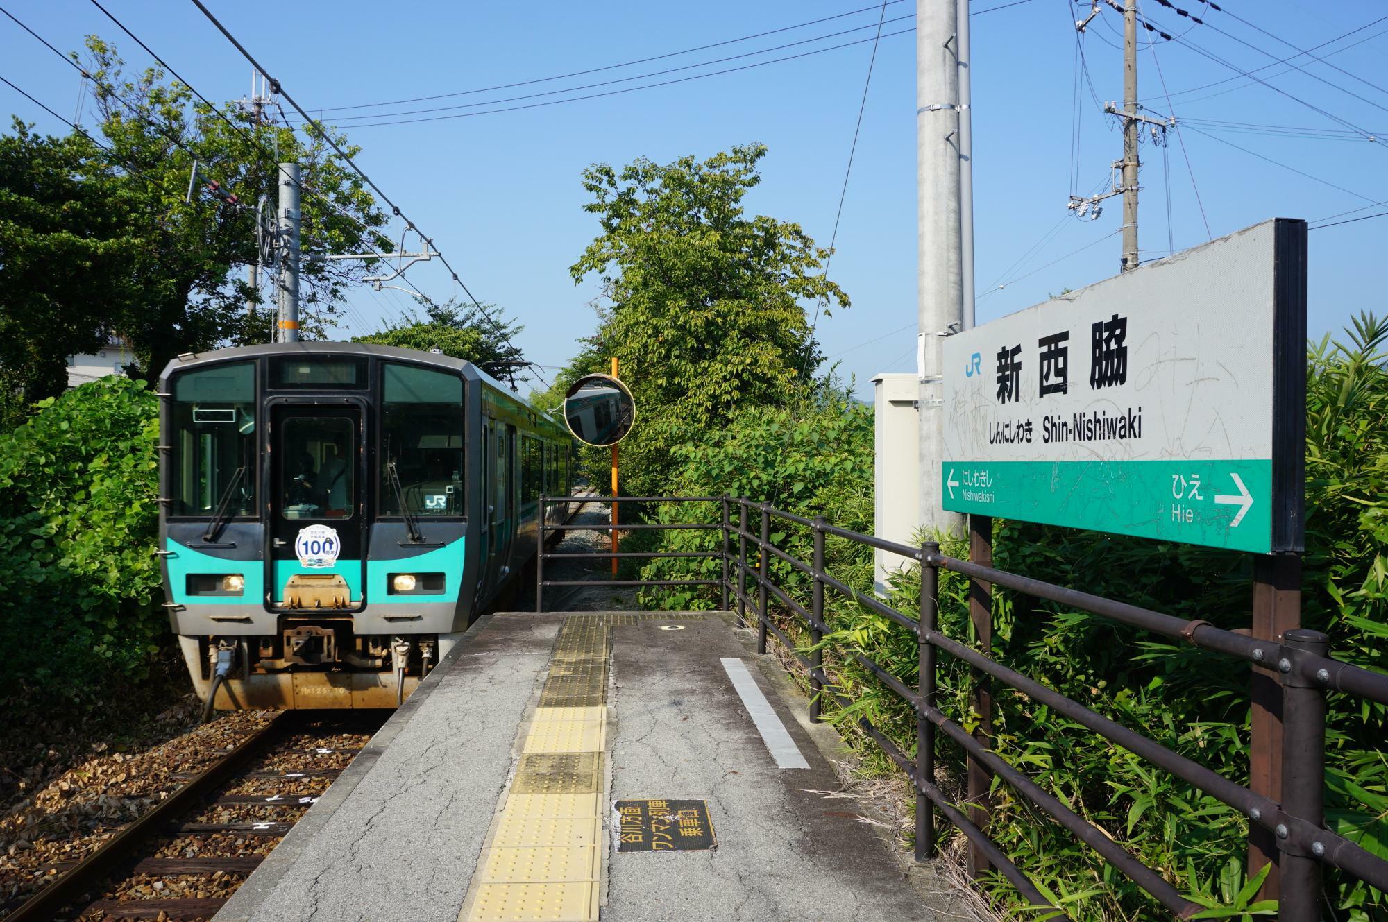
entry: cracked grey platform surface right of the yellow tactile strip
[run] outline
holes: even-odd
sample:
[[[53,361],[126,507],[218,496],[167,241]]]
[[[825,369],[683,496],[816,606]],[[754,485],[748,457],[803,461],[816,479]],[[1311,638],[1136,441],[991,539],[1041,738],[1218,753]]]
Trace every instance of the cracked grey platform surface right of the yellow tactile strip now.
[[[680,622],[684,630],[659,623],[612,632],[612,800],[706,800],[718,848],[611,854],[602,918],[937,918],[887,844],[845,807],[852,801],[824,798],[841,785],[775,693],[780,665],[751,653],[718,617]],[[808,769],[776,766],[720,657],[747,664]]]

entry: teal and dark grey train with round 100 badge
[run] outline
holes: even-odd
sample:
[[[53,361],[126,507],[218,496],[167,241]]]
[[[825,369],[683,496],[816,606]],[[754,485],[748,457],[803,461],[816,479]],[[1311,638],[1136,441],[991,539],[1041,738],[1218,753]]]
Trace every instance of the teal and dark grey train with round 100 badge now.
[[[447,355],[246,346],[160,385],[165,604],[208,711],[397,705],[570,490],[568,430]]]

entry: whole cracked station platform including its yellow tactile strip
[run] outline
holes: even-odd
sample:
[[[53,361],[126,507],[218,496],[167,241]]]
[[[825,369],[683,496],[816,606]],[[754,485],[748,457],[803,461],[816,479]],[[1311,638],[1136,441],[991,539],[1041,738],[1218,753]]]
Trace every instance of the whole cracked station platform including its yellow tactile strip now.
[[[826,798],[837,737],[750,643],[718,612],[479,622],[218,922],[954,915]],[[619,851],[627,800],[706,801],[716,847]]]

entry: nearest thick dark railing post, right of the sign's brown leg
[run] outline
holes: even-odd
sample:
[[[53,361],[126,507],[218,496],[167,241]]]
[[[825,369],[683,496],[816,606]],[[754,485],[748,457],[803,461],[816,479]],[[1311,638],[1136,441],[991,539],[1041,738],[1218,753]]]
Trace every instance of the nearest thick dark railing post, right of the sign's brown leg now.
[[[1330,637],[1319,630],[1294,628],[1283,636],[1292,650],[1323,657],[1330,648]],[[1277,668],[1283,672],[1283,812],[1319,829],[1326,821],[1326,692],[1289,660],[1280,660]],[[1319,922],[1323,894],[1314,846],[1291,844],[1284,826],[1276,835],[1281,853],[1277,918]]]

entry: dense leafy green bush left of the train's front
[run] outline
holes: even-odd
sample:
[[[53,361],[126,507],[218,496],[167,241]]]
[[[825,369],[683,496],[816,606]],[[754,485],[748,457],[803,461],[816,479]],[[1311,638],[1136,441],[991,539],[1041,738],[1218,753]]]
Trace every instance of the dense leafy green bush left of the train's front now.
[[[0,436],[0,636],[24,686],[79,698],[142,679],[167,639],[153,557],[158,400],[104,378]]]

